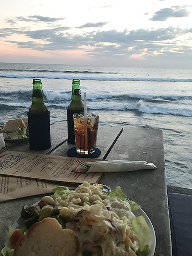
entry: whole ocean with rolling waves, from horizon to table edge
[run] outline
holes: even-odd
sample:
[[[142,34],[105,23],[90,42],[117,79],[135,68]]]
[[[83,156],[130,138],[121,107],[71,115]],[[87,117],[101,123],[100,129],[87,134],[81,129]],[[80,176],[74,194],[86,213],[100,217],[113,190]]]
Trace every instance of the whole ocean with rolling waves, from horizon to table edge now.
[[[161,129],[167,184],[192,188],[192,70],[0,63],[0,124],[26,117],[34,78],[51,122],[67,121],[76,78],[99,125]]]

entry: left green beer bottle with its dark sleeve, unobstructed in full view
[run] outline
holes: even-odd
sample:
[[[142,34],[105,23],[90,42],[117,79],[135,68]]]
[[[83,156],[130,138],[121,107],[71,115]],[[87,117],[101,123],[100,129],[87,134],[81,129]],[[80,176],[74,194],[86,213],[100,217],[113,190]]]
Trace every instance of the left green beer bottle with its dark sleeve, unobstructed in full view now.
[[[27,113],[29,148],[44,150],[51,147],[50,112],[44,102],[41,79],[33,79],[32,104]]]

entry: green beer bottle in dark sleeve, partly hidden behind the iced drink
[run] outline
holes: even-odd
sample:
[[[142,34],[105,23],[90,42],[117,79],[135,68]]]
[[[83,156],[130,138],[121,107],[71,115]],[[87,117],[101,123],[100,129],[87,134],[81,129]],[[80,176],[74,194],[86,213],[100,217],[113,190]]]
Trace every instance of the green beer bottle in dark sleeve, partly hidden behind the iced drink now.
[[[81,88],[80,80],[73,79],[72,82],[72,96],[70,104],[67,108],[67,133],[68,143],[75,144],[75,131],[73,123],[73,114],[78,112],[84,112],[84,104],[81,100]]]

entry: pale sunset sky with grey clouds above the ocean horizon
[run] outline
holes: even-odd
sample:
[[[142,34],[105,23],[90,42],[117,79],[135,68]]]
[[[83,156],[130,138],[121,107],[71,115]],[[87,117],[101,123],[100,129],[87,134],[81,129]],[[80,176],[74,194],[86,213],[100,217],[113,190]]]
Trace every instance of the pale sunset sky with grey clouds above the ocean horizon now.
[[[0,62],[192,68],[191,0],[0,0]]]

